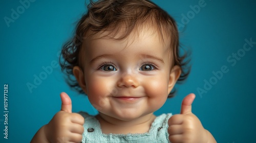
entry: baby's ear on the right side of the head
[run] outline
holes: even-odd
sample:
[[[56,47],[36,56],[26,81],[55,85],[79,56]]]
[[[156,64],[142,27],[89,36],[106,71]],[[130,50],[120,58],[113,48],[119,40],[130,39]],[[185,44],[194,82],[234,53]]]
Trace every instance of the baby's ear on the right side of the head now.
[[[181,68],[178,65],[175,65],[170,71],[170,78],[168,83],[168,93],[174,88],[175,83],[179,79],[181,74]]]

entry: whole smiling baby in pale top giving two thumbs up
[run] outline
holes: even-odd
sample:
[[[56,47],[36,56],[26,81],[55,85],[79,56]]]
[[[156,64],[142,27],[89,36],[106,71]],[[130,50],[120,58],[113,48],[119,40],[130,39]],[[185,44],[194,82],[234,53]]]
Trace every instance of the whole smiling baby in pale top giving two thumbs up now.
[[[189,73],[176,23],[154,3],[91,1],[62,57],[69,84],[99,113],[72,113],[62,92],[61,111],[31,142],[216,142],[191,112],[193,93],[180,114],[153,114]]]

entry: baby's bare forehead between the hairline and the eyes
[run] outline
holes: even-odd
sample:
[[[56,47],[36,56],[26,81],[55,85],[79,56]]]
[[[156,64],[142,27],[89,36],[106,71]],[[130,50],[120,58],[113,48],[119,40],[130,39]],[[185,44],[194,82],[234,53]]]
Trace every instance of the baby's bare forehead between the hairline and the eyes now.
[[[120,32],[113,35],[110,31],[101,31],[87,39],[83,43],[83,50],[80,51],[81,63],[92,57],[97,57],[97,55],[118,56],[120,53],[126,52],[132,52],[135,57],[158,55],[157,57],[160,58],[164,56],[167,56],[168,59],[172,58],[173,50],[170,46],[170,39],[164,37],[165,41],[162,41],[161,36],[154,29],[143,28],[140,31],[131,32],[123,39],[118,39],[122,34]]]

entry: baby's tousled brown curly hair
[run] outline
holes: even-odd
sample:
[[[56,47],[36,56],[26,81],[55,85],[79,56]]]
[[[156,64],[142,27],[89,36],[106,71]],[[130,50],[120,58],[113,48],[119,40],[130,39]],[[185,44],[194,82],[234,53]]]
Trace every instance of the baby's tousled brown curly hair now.
[[[132,31],[138,32],[141,25],[155,28],[163,42],[164,36],[170,38],[170,50],[174,56],[174,63],[170,66],[178,65],[181,67],[181,76],[178,82],[184,81],[190,72],[189,60],[185,61],[187,52],[180,54],[177,25],[167,12],[153,2],[146,0],[99,0],[97,2],[90,0],[88,12],[77,23],[75,35],[63,45],[61,50],[60,65],[62,71],[67,75],[68,84],[78,92],[83,93],[74,78],[73,67],[82,66],[79,53],[82,50],[84,39],[106,30],[110,31],[109,35],[115,36],[119,29],[124,27],[123,34],[115,38],[121,40],[129,36]],[[175,90],[170,92],[168,97],[173,97],[174,93]]]

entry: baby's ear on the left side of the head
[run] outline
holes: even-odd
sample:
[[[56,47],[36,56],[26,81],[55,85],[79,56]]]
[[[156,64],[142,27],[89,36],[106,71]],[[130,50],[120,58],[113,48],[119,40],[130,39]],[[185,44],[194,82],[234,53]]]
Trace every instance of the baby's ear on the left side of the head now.
[[[73,67],[73,74],[76,77],[76,80],[79,86],[82,88],[84,93],[86,93],[87,92],[86,81],[84,81],[84,75],[83,75],[82,69],[79,66]]]

